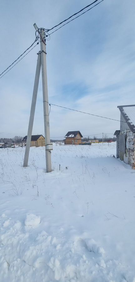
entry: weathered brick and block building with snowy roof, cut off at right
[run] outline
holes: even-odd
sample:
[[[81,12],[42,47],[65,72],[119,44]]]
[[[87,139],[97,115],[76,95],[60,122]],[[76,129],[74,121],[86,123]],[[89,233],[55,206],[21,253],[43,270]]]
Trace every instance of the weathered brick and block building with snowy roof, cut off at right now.
[[[121,112],[117,138],[117,158],[135,169],[135,105],[118,106]]]

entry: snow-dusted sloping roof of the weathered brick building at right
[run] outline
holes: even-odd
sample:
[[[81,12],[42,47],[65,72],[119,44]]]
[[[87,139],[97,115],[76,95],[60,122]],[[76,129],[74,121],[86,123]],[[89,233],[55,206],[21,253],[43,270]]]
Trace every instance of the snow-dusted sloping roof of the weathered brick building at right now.
[[[135,132],[135,105],[118,106],[130,130]]]

